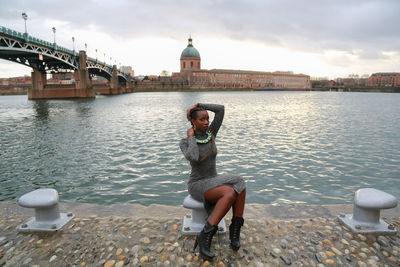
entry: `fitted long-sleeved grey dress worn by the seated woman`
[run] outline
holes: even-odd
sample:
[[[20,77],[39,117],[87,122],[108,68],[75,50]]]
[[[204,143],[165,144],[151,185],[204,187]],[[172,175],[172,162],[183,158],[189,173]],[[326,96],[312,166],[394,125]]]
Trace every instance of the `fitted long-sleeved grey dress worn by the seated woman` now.
[[[216,104],[199,104],[199,107],[203,107],[204,109],[215,113],[214,120],[208,128],[212,134],[213,142],[210,141],[206,144],[198,144],[194,137],[187,137],[181,140],[179,146],[183,155],[185,155],[185,158],[190,161],[190,165],[192,166],[192,172],[188,182],[189,194],[191,194],[194,199],[204,202],[206,210],[210,214],[213,205],[212,203],[206,203],[206,201],[204,201],[205,192],[218,186],[229,185],[236,191],[236,193],[240,194],[246,188],[246,184],[243,178],[238,175],[217,174],[217,146],[215,144],[215,139],[218,130],[221,127],[222,120],[224,119],[224,106]],[[206,133],[195,131],[195,137],[201,140],[206,139],[207,135]],[[200,160],[209,153],[212,146],[213,148],[211,153],[206,159],[200,162]]]

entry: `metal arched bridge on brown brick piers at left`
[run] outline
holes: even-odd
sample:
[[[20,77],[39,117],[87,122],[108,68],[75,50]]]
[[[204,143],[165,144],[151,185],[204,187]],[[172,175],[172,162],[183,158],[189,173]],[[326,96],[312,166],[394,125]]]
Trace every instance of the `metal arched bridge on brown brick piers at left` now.
[[[0,26],[0,58],[33,69],[29,99],[95,97],[95,93],[119,94],[132,92],[128,73],[97,59],[87,57],[86,51],[72,51],[27,33]],[[74,71],[75,84],[47,84],[46,73]],[[91,78],[101,76],[109,83],[95,89]],[[96,87],[96,86],[95,86]]]

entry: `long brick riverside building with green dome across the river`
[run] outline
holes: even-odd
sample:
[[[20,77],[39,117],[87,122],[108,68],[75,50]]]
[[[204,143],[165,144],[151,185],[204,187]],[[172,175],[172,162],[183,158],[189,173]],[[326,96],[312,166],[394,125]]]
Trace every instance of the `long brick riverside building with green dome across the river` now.
[[[181,83],[189,88],[311,88],[310,76],[292,72],[263,72],[249,70],[201,69],[199,51],[189,38],[187,47],[180,57],[180,72],[174,72],[174,83]]]

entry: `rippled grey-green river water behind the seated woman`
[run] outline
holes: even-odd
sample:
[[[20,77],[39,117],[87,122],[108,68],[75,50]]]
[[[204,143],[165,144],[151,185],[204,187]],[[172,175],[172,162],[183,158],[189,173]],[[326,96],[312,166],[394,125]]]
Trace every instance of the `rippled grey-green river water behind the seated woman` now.
[[[247,180],[247,202],[400,197],[400,94],[207,92],[0,97],[0,200],[50,186],[62,201],[179,205],[190,168],[178,143],[197,102],[225,105],[218,171]]]

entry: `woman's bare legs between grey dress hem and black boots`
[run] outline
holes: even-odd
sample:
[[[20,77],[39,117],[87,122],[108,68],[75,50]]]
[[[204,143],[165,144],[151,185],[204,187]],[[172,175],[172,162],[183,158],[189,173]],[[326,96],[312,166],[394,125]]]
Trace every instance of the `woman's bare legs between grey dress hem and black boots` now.
[[[228,185],[218,186],[205,192],[205,200],[211,203],[216,203],[210,218],[208,218],[208,222],[211,225],[218,225],[222,218],[224,218],[225,214],[229,211],[229,209],[237,200],[237,196],[238,194],[235,192],[235,190]],[[244,200],[242,200],[240,203],[243,204],[238,204],[239,211],[240,205],[244,206]]]

